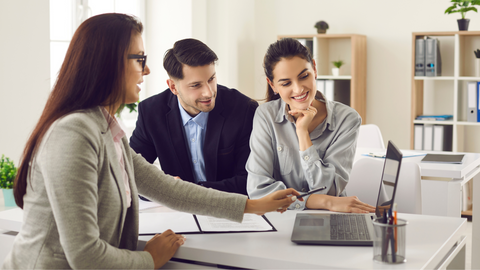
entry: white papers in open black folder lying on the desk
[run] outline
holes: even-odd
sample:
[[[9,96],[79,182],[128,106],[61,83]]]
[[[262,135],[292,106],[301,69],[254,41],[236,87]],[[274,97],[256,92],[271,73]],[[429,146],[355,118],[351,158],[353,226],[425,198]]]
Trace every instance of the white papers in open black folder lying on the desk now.
[[[154,235],[171,229],[177,234],[276,231],[265,216],[245,214],[243,222],[183,212],[139,213],[139,234]]]

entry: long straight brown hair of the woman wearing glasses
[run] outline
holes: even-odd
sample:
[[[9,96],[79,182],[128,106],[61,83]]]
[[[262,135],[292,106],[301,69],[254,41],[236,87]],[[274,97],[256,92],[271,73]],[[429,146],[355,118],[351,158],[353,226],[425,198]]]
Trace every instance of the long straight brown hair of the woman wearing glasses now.
[[[96,106],[113,110],[113,105],[123,104],[128,49],[132,36],[142,31],[142,23],[137,18],[118,13],[91,17],[78,27],[43,113],[23,151],[13,186],[15,202],[20,208],[27,192],[29,163],[53,122],[77,110]]]

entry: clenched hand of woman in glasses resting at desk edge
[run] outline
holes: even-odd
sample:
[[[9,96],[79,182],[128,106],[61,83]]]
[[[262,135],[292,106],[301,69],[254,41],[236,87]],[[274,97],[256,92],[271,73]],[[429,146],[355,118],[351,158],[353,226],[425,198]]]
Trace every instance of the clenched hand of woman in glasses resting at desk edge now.
[[[183,235],[175,234],[172,230],[166,230],[150,239],[143,250],[152,255],[155,269],[158,269],[173,257],[173,254],[183,243],[185,243]]]

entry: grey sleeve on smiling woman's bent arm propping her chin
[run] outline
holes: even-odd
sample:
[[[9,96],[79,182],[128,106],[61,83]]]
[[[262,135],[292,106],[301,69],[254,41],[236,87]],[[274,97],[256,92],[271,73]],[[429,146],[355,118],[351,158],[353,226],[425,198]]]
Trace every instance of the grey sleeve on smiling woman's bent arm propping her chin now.
[[[325,151],[323,159],[313,146],[299,151],[310,190],[326,186],[328,195],[342,195],[352,170],[361,122],[357,114],[348,115],[339,125],[339,132]]]

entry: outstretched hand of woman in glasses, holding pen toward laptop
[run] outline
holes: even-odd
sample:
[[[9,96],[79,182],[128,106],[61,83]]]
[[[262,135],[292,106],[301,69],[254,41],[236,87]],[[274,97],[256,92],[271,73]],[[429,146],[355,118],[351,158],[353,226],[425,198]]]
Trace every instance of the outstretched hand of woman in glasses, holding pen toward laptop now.
[[[283,213],[287,210],[290,204],[292,204],[292,202],[297,200],[297,196],[299,195],[300,193],[298,193],[295,189],[288,188],[275,191],[258,200],[247,199],[245,213],[253,213],[257,215],[263,215],[272,211]],[[300,198],[299,200],[303,201],[303,198]]]

